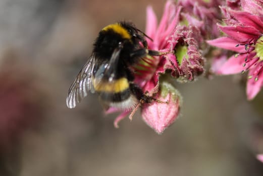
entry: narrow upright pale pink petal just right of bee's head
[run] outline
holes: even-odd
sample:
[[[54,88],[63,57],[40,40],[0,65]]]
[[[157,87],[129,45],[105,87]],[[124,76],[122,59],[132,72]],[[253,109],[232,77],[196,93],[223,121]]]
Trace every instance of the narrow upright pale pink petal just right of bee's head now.
[[[145,33],[153,38],[157,30],[157,18],[151,6],[146,8],[146,28]]]

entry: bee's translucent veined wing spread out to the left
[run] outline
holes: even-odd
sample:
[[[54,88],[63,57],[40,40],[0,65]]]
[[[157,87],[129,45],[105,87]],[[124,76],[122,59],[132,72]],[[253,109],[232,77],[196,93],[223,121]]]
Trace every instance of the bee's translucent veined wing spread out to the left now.
[[[91,83],[94,64],[95,57],[94,54],[92,54],[87,63],[80,70],[72,85],[70,86],[69,94],[67,97],[68,108],[75,108],[76,102],[80,103],[80,101],[87,96],[88,91],[94,93],[93,86]]]

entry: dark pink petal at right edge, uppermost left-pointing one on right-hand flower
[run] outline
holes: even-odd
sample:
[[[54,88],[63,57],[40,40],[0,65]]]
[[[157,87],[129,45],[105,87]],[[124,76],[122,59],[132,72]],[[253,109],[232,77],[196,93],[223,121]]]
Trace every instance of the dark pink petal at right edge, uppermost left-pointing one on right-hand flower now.
[[[243,25],[252,26],[258,31],[263,31],[263,23],[258,16],[252,15],[248,12],[240,12],[240,11],[233,11],[233,10],[229,10],[228,12],[231,14],[231,16],[233,16]]]

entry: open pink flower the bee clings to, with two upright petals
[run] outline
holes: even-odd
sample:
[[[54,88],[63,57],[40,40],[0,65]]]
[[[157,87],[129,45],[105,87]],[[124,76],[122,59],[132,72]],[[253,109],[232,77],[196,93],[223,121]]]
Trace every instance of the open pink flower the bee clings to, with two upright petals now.
[[[176,7],[172,1],[168,1],[165,6],[163,17],[157,25],[157,18],[151,7],[146,9],[146,31],[152,41],[146,38],[148,48],[161,52],[173,52],[177,40],[173,38],[175,28],[179,23],[181,7]],[[147,57],[135,67],[135,82],[143,88],[149,95],[157,93],[159,89],[159,76],[167,69],[175,71],[177,65],[174,53],[166,56]],[[140,67],[138,67],[140,66]],[[141,69],[144,68],[144,69]]]

